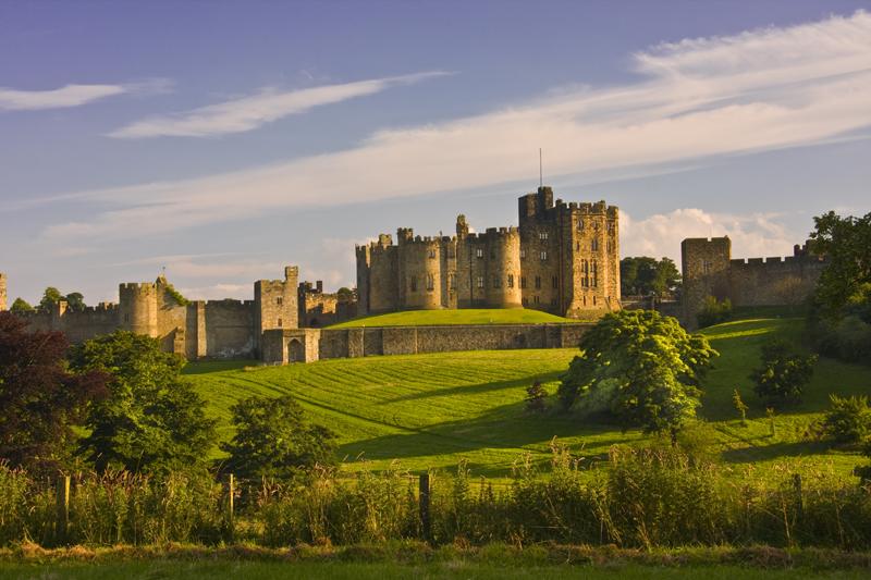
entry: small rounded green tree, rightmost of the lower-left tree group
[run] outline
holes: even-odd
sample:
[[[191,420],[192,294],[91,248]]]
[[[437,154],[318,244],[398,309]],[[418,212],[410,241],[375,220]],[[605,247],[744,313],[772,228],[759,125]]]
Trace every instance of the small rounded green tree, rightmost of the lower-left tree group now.
[[[302,469],[334,462],[335,435],[308,424],[291,396],[246,398],[231,409],[236,434],[221,449],[225,469],[242,478],[289,479]]]

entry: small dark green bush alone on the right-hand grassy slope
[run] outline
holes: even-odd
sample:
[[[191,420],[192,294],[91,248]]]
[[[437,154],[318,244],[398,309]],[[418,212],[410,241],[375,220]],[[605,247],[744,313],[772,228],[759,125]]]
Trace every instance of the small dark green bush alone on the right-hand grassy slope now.
[[[756,383],[756,394],[771,407],[801,400],[801,392],[813,375],[817,358],[817,355],[790,351],[783,341],[764,345],[762,365],[750,373],[750,380]]]

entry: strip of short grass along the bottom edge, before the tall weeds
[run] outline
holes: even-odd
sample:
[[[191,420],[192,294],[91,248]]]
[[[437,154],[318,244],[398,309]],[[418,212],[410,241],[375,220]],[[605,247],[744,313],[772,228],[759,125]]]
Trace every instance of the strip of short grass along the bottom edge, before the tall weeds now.
[[[83,548],[0,551],[3,578],[864,578],[868,554],[820,550],[634,551],[545,545],[517,548],[403,542],[266,550]]]

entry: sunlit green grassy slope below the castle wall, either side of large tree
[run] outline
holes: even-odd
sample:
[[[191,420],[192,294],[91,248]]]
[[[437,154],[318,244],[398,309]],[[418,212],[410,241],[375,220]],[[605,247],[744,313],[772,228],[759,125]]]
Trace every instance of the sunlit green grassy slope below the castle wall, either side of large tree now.
[[[704,437],[737,470],[749,462],[774,469],[777,461],[789,459],[831,466],[847,477],[857,456],[809,443],[803,433],[827,407],[829,393],[871,392],[871,369],[821,359],[805,402],[776,417],[773,437],[747,379],[762,344],[774,336],[796,337],[800,326],[797,318],[755,318],[704,331],[722,355],[703,384],[701,414],[712,425]],[[474,472],[500,476],[525,453],[547,464],[553,436],[591,459],[604,458],[615,443],[646,439],[579,417],[524,412],[525,387],[538,379],[554,392],[576,353],[450,353],[260,368],[201,363],[186,372],[209,400],[210,412],[221,419],[222,437],[231,435],[226,418],[234,402],[291,393],[314,421],[339,434],[341,454],[349,461],[365,458],[380,469],[395,459],[405,468],[424,470],[453,467],[466,458]],[[749,427],[739,424],[732,407],[736,387],[751,407]]]

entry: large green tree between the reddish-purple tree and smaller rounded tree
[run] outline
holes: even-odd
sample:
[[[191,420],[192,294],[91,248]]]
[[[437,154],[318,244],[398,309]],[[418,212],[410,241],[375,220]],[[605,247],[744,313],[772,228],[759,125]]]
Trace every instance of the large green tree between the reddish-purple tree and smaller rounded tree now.
[[[205,402],[181,380],[184,359],[160,343],[118,331],[73,349],[71,366],[111,375],[109,397],[91,407],[81,453],[95,467],[165,471],[205,462],[214,421]]]

